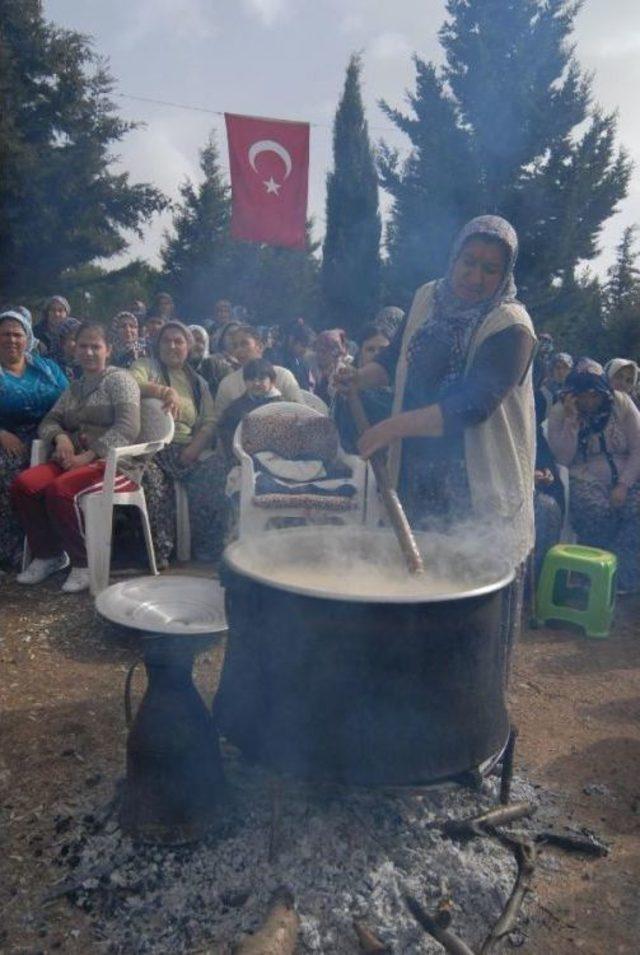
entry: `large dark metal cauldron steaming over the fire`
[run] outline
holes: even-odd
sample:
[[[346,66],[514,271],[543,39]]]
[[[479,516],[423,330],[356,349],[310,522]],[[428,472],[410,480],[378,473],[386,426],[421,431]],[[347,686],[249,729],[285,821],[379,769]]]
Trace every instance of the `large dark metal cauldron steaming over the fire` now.
[[[329,540],[346,586],[287,582],[296,564],[321,569]],[[350,559],[373,551],[395,560],[384,531],[295,528],[232,544],[222,572],[229,639],[214,703],[227,738],[277,771],[365,786],[433,783],[496,757],[509,733],[501,621],[513,574],[484,561],[478,580],[454,553],[459,586],[433,592],[430,568],[441,567],[431,547],[442,563],[442,541],[425,536],[424,593],[390,583],[372,594],[362,575],[350,584]]]

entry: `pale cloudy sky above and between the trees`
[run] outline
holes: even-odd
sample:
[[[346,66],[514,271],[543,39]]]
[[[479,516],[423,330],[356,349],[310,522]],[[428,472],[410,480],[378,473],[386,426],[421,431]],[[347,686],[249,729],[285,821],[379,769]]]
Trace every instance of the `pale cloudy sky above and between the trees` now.
[[[198,178],[198,151],[213,130],[227,168],[224,120],[216,111],[306,120],[312,124],[309,212],[324,232],[331,123],[349,56],[363,56],[363,98],[371,138],[406,150],[407,140],[378,106],[403,107],[412,88],[412,54],[441,61],[437,33],[444,0],[45,0],[45,15],[92,36],[117,80],[121,115],[145,125],[117,145],[133,181],[152,182],[172,199]],[[594,74],[594,99],[619,114],[619,142],[636,163],[629,196],[605,225],[602,274],[625,226],[640,223],[640,3],[586,0],[576,52]],[[144,97],[196,109],[150,103]],[[213,112],[208,112],[213,111]],[[389,200],[381,194],[383,214]],[[170,215],[109,267],[140,256],[153,264]]]

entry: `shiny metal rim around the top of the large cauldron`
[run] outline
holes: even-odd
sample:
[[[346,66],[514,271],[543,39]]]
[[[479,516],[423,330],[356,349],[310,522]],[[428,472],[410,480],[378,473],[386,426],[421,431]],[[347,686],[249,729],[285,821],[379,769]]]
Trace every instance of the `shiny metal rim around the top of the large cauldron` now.
[[[343,528],[340,528],[343,529]],[[353,528],[351,528],[353,530]],[[276,535],[291,535],[295,536],[296,532],[298,534],[301,531],[308,531],[308,527],[293,527],[293,528],[284,528],[279,530],[268,530],[262,532],[259,535],[260,538],[265,538],[267,535],[269,537],[275,537]],[[365,533],[384,533],[391,535],[390,531],[381,529],[374,530],[372,528],[358,528]],[[284,591],[284,593],[298,594],[302,597],[312,597],[319,600],[332,600],[336,602],[343,603],[371,603],[371,604],[442,604],[442,603],[453,603],[459,600],[470,600],[474,597],[483,597],[487,594],[495,593],[497,590],[502,590],[504,587],[511,584],[515,577],[515,571],[510,570],[508,573],[503,574],[502,576],[496,578],[495,580],[490,581],[489,583],[482,584],[480,587],[471,587],[467,590],[460,590],[455,593],[430,593],[430,594],[357,594],[357,593],[344,593],[342,591],[320,589],[314,587],[304,587],[300,584],[287,584],[284,581],[274,580],[268,574],[260,573],[257,570],[252,570],[243,565],[241,557],[244,551],[250,549],[250,547],[255,543],[255,538],[252,542],[247,544],[246,541],[236,540],[233,543],[229,544],[224,551],[223,559],[225,564],[229,567],[230,570],[239,574],[241,577],[246,577],[249,580],[253,580],[256,583],[263,584],[267,587],[273,587],[276,590]],[[240,558],[240,561],[238,560]]]

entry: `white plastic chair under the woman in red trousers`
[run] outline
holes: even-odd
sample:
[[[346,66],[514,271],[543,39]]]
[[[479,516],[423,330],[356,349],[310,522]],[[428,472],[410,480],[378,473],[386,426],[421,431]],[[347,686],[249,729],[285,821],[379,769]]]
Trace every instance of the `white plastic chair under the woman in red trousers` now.
[[[80,507],[85,525],[89,580],[94,597],[109,586],[115,505],[137,507],[140,511],[149,567],[152,574],[158,573],[147,502],[142,486],[139,485],[134,491],[118,491],[114,487],[118,462],[122,458],[150,457],[161,451],[173,438],[173,418],[164,411],[162,403],[157,398],[144,398],[140,402],[140,419],[140,442],[122,448],[112,448],[107,455],[102,490],[80,496]]]

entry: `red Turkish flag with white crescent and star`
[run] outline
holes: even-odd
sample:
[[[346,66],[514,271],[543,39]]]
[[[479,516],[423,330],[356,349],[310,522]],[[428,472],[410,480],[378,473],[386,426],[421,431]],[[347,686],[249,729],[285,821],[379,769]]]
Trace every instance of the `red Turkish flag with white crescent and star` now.
[[[224,114],[231,168],[231,235],[303,249],[309,124]]]

